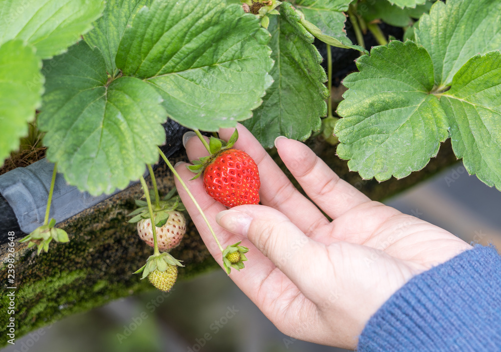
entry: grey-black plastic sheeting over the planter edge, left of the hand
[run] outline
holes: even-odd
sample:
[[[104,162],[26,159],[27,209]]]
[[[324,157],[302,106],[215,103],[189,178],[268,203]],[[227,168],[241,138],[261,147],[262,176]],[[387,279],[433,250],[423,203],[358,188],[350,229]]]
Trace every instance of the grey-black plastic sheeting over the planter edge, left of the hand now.
[[[182,136],[188,128],[170,119],[163,126],[166,143],[160,149],[167,157],[182,152]],[[160,158],[160,162],[164,163],[163,159]],[[43,224],[53,170],[54,164],[42,159],[0,176],[0,245],[10,242],[9,232],[14,231],[15,238],[22,238]],[[138,182],[131,182],[129,187]],[[50,215],[62,222],[119,192],[93,197],[67,185],[63,175],[58,173]]]

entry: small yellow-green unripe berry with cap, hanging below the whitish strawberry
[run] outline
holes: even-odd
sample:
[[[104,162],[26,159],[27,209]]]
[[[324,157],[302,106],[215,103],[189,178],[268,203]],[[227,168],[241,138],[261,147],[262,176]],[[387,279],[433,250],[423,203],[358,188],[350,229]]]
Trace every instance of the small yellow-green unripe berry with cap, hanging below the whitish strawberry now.
[[[143,273],[141,280],[148,277],[153,286],[167,292],[176,281],[178,266],[183,266],[179,260],[169,253],[160,253],[150,256],[134,274]]]

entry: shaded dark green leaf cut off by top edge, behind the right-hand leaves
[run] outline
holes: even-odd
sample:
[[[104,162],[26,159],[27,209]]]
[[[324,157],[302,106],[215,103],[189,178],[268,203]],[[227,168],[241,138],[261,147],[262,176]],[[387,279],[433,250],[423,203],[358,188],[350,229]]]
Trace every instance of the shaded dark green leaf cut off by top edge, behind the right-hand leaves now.
[[[391,5],[388,0],[363,0],[358,7],[367,9],[362,12],[362,17],[369,23],[375,20],[382,20],[395,27],[412,26],[413,19],[419,19],[423,14],[429,13],[433,2],[427,0],[424,5],[418,5],[414,9],[400,8]]]

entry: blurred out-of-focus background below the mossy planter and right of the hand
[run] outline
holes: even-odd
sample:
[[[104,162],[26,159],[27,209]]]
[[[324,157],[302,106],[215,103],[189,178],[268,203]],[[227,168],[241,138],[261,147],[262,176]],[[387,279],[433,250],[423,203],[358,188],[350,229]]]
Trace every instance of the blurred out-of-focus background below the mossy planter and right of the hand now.
[[[467,242],[501,248],[501,192],[469,176],[462,163],[387,205]],[[2,352],[325,352],[343,349],[281,333],[222,270],[78,314],[16,339]]]

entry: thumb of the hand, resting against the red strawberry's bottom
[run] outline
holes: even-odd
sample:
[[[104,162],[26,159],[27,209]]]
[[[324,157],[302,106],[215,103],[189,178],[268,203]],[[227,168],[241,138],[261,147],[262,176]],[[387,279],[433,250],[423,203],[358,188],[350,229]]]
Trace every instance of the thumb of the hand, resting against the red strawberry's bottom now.
[[[217,214],[216,221],[224,229],[247,237],[315,302],[318,276],[322,275],[317,269],[329,263],[325,245],[306,236],[278,210],[262,205],[224,210]]]

